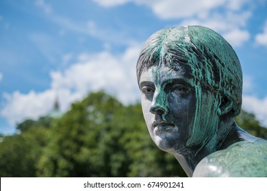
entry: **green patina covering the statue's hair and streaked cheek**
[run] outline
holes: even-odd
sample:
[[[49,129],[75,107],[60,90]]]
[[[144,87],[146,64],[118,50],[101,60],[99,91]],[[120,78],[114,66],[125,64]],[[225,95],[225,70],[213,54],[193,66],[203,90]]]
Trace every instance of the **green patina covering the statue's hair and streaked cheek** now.
[[[240,62],[231,45],[211,29],[189,26],[157,31],[147,40],[140,53],[138,76],[142,70],[153,65],[157,65],[157,70],[154,71],[155,79],[160,77],[159,69],[162,65],[167,65],[170,72],[175,72],[182,66],[194,76],[196,113],[191,137],[187,141],[188,146],[201,145],[200,150],[207,142],[212,141],[211,138],[218,130],[218,117],[214,116],[222,113],[220,104],[223,98],[231,100],[233,117],[240,113]],[[162,93],[157,99],[162,104],[168,104],[166,96],[168,95]],[[210,108],[213,108],[212,111]]]

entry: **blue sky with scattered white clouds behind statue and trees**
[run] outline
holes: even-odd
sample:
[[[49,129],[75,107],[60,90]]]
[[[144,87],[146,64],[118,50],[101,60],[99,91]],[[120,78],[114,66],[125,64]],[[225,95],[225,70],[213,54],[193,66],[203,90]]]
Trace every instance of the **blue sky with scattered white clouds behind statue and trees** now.
[[[62,112],[91,91],[138,101],[142,44],[183,25],[229,41],[242,64],[243,108],[267,126],[266,0],[1,0],[0,133],[46,115],[55,97]]]

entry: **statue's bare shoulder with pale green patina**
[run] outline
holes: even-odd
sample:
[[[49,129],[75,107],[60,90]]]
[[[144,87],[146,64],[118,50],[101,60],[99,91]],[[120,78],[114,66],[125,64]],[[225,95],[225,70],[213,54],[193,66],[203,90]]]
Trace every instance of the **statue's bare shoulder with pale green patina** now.
[[[240,141],[203,158],[194,177],[267,177],[267,141]]]

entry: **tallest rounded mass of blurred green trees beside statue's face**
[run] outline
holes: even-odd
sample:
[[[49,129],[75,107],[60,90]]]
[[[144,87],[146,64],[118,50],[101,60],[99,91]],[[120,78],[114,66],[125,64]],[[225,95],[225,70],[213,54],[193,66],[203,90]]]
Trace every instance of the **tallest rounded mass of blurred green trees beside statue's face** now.
[[[103,92],[53,124],[38,164],[46,177],[155,177],[184,175],[173,156],[149,137],[140,104],[123,106]],[[180,171],[180,173],[179,173]]]

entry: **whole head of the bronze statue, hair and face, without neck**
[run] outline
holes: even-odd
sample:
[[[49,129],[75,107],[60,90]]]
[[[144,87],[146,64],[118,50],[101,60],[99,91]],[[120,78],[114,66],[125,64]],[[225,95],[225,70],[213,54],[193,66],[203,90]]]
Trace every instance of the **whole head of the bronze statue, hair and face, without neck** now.
[[[231,45],[207,27],[155,32],[140,52],[136,72],[145,94],[144,119],[153,141],[163,150],[202,147],[216,135],[218,123],[240,113],[240,61]],[[184,82],[179,83],[179,78]],[[149,83],[142,85],[143,81]],[[161,135],[156,132],[160,127]],[[178,146],[179,137],[184,144]],[[169,143],[164,143],[164,138]]]

